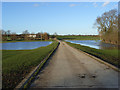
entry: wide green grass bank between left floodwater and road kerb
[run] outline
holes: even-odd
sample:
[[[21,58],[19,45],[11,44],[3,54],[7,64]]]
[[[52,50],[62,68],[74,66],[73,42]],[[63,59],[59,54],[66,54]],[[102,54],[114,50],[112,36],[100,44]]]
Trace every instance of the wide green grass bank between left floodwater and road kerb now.
[[[3,88],[14,88],[57,45],[58,42],[54,41],[33,50],[3,50]]]

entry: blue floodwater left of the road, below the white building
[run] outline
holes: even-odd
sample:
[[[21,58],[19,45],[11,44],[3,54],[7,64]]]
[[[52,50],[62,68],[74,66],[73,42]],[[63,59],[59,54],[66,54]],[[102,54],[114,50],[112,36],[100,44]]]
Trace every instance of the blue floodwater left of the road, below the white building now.
[[[51,44],[49,41],[0,43],[0,50],[28,50]]]

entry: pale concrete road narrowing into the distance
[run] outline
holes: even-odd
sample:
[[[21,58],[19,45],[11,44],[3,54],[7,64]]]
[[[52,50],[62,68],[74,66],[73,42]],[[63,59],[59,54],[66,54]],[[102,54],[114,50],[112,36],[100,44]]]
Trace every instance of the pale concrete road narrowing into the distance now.
[[[117,88],[118,72],[64,42],[31,88]]]

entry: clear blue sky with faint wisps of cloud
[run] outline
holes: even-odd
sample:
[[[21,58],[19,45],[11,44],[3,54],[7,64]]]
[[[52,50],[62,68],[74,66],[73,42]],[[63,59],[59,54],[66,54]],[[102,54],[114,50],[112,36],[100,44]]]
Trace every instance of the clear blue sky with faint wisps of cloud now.
[[[12,32],[98,34],[95,19],[117,2],[3,2],[2,28]]]

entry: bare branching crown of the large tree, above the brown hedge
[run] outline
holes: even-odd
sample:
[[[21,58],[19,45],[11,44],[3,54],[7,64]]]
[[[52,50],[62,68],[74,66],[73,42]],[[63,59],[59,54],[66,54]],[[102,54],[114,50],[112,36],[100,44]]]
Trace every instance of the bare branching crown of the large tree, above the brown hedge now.
[[[97,26],[98,31],[102,34],[110,32],[111,30],[118,30],[117,10],[110,10],[102,14],[101,17],[97,17],[94,25]]]

